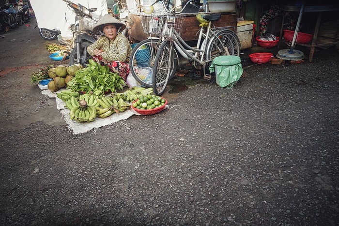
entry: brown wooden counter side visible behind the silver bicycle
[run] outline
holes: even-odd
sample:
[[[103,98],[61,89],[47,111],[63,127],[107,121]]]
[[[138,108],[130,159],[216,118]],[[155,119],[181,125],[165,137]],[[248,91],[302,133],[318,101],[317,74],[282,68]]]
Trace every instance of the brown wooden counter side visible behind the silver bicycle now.
[[[199,35],[199,21],[196,19],[197,14],[187,14],[185,15],[185,21],[183,23],[181,37],[185,41],[193,41],[198,39]],[[149,35],[147,33],[144,33],[142,29],[142,24],[140,20],[139,15],[131,15],[131,19],[133,20],[132,28],[131,28],[131,38],[136,41],[142,41],[144,39],[147,39]],[[236,26],[237,26],[237,14],[224,14],[221,15],[221,18],[214,22],[213,25],[215,27],[228,27],[228,26],[234,26],[236,32]]]

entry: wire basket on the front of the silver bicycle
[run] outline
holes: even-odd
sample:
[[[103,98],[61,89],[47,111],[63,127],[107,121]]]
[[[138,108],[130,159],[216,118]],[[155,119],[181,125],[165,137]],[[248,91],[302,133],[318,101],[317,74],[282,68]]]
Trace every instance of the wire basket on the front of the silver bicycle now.
[[[182,31],[182,26],[185,21],[185,15],[168,14],[159,15],[158,29],[155,33],[158,36],[173,39],[178,37]],[[174,30],[176,32],[174,32]]]

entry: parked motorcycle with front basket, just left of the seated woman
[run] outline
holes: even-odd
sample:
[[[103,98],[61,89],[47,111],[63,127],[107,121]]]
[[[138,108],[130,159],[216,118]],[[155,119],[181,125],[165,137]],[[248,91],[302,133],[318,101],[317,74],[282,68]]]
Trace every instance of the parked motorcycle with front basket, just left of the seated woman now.
[[[92,56],[87,52],[87,47],[92,45],[97,39],[97,35],[92,32],[92,26],[97,22],[93,19],[90,10],[81,4],[75,4],[69,0],[63,0],[72,8],[76,14],[76,22],[70,26],[73,31],[73,49],[69,57],[69,65],[79,63],[85,66]]]

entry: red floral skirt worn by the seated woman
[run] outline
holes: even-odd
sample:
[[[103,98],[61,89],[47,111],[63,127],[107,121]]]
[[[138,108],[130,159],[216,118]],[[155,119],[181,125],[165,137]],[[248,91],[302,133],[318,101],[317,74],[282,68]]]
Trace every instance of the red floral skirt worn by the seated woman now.
[[[124,81],[126,81],[127,76],[129,74],[129,64],[127,62],[121,62],[121,61],[108,61],[105,59],[102,59],[101,56],[93,56],[93,60],[97,63],[100,63],[102,66],[108,66],[109,71],[113,73],[117,73],[120,77],[123,78]]]

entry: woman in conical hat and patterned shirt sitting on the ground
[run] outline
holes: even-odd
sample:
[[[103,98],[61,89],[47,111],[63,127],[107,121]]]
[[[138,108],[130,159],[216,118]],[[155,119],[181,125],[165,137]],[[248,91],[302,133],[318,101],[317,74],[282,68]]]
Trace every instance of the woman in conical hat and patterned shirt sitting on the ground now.
[[[111,72],[120,75],[126,81],[129,74],[129,57],[132,47],[127,38],[122,34],[126,25],[107,14],[99,19],[92,31],[100,36],[92,45],[87,47],[87,52],[93,60],[101,65],[107,65]],[[103,33],[101,32],[103,31]]]

